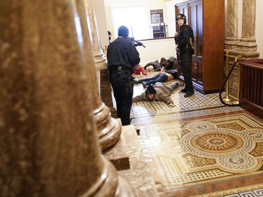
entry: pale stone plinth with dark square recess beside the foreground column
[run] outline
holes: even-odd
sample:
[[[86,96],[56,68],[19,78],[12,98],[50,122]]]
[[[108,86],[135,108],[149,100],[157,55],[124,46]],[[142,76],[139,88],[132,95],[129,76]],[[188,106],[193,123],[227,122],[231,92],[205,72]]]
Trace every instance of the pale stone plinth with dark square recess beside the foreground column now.
[[[113,161],[118,175],[126,179],[137,196],[158,196],[135,126],[122,126],[122,131],[119,142],[105,152],[104,156]]]

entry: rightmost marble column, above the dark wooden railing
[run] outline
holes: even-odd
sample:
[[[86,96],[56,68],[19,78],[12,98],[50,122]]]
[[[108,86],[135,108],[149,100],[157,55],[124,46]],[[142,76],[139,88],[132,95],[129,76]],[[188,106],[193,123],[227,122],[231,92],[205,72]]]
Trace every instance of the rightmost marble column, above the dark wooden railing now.
[[[256,0],[243,0],[242,36],[240,39],[243,59],[257,59],[255,39]]]

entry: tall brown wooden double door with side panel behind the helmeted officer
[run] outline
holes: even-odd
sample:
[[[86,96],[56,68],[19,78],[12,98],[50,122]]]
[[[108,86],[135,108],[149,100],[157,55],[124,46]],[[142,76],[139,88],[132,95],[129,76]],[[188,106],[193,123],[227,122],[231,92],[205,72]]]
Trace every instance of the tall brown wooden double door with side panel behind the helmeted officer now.
[[[219,92],[224,81],[224,0],[191,0],[175,5],[194,32],[191,76],[201,93]],[[177,31],[179,27],[177,27]],[[180,78],[183,79],[179,72]]]

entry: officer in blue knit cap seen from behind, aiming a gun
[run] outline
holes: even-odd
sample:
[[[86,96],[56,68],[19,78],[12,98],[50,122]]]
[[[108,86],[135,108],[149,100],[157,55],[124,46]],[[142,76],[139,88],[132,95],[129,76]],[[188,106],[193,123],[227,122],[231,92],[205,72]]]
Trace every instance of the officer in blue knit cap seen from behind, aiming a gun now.
[[[126,26],[118,29],[118,38],[107,48],[109,81],[114,90],[117,114],[122,125],[130,124],[130,108],[133,104],[133,67],[140,63],[140,54],[128,38]]]

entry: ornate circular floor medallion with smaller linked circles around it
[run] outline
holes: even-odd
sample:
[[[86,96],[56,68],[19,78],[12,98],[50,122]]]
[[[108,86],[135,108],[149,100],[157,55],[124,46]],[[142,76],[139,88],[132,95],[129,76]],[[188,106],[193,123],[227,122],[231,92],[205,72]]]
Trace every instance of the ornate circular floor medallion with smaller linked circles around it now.
[[[252,147],[255,147],[255,139],[262,138],[262,131],[246,130],[248,125],[241,123],[187,123],[184,128],[187,128],[189,133],[182,137],[182,144],[187,144],[183,149],[205,159],[217,158],[218,168],[225,172],[257,170],[259,162],[250,152]]]

